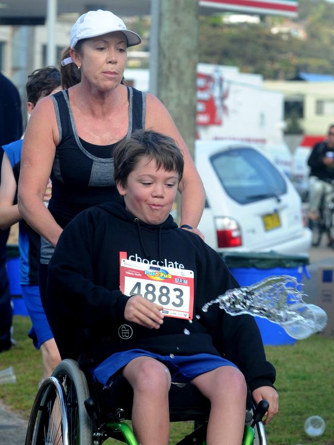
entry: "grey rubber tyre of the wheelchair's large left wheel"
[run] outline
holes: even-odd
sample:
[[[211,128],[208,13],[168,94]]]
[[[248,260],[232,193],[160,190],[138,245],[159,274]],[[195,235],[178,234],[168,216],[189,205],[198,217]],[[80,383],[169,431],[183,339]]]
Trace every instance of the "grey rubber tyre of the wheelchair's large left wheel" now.
[[[60,381],[65,393],[69,445],[91,445],[92,422],[84,405],[89,391],[84,373],[76,361],[66,359],[52,375]]]

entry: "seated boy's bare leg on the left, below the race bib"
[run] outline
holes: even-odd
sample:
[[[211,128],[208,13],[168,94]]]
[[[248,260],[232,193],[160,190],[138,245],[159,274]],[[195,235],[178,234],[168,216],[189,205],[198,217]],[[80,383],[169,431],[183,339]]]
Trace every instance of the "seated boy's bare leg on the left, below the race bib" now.
[[[151,357],[129,362],[123,376],[134,390],[132,424],[141,445],[168,445],[171,375],[168,369]]]

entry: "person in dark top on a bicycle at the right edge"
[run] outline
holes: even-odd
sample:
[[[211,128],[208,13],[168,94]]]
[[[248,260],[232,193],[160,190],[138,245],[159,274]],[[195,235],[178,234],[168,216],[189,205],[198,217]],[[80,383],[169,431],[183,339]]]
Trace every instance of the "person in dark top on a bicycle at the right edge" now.
[[[329,196],[334,186],[334,124],[329,126],[327,139],[314,145],[307,161],[309,175],[309,218],[319,219],[322,196]]]

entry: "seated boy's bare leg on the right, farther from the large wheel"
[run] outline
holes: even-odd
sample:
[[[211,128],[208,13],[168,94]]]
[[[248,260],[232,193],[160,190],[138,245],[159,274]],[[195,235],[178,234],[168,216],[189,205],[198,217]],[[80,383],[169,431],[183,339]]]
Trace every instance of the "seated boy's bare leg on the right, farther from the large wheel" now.
[[[211,402],[207,445],[240,445],[247,396],[243,374],[233,366],[221,366],[191,383]]]

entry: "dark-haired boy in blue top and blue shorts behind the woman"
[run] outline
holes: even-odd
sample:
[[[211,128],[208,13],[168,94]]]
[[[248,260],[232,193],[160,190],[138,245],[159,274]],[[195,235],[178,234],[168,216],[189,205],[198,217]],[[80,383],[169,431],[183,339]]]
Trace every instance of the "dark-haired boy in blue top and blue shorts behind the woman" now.
[[[60,72],[55,67],[35,70],[28,78],[27,109],[32,113],[40,99],[61,89]],[[0,185],[0,228],[6,229],[19,222],[20,284],[22,295],[32,321],[29,337],[37,349],[41,349],[44,378],[48,377],[60,355],[55,344],[41,303],[38,286],[38,250],[40,236],[22,219],[17,209],[17,183],[20,176],[21,149],[23,140],[4,145],[2,163],[2,183]],[[50,199],[50,186],[46,190],[44,202]]]

